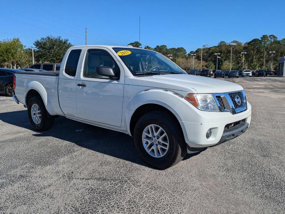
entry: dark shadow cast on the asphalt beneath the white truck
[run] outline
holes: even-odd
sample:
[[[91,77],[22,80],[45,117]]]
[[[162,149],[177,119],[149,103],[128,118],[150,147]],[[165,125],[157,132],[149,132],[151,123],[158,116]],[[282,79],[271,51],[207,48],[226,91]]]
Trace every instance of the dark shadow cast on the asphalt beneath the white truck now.
[[[91,126],[65,117],[56,118],[50,130],[39,132],[32,129],[26,110],[0,113],[0,120],[31,130],[35,132],[32,135],[39,138],[58,138],[89,150],[150,167],[139,157],[134,147],[133,138],[124,133]],[[187,154],[184,160],[197,154],[199,153]]]

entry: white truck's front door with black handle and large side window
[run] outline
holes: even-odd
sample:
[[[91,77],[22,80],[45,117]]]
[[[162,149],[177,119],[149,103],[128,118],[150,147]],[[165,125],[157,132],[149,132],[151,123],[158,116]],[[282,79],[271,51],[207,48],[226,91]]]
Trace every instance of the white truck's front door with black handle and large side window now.
[[[77,75],[76,105],[79,118],[120,127],[124,71],[112,55],[107,48],[87,50],[83,70]],[[98,75],[99,66],[113,68],[118,79]]]

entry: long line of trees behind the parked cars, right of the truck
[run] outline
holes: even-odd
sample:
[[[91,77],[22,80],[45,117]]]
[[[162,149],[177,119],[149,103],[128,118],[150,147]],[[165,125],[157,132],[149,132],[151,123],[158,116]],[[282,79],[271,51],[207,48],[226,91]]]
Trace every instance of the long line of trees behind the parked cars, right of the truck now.
[[[272,70],[276,71],[278,68],[278,59],[285,56],[285,38],[278,40],[275,35],[262,35],[260,39],[255,38],[244,44],[236,40],[230,43],[236,43],[236,45],[232,46],[232,70],[270,70],[271,57],[273,54]],[[129,43],[128,45],[141,47],[141,44],[137,41]],[[230,69],[231,46],[225,41],[221,41],[218,45],[212,47],[204,45],[203,48],[198,48],[189,53],[187,53],[183,47],[167,48],[166,45],[157,45],[156,47],[145,46],[144,48],[157,51],[164,56],[172,54],[173,59],[171,60],[184,70],[193,68],[193,56],[195,56],[194,69],[200,70],[202,67],[216,70],[217,55],[215,55],[215,53],[220,53],[220,55],[218,55],[221,57],[218,58],[218,70]],[[275,53],[269,53],[269,51],[275,51]],[[246,52],[246,54],[243,56],[242,52]],[[191,54],[196,55],[192,56]]]

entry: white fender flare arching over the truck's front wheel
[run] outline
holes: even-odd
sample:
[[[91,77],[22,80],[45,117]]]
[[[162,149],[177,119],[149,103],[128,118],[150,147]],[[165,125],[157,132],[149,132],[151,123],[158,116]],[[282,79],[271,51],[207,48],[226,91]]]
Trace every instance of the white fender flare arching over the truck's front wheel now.
[[[167,99],[167,101],[166,101]],[[175,108],[181,102],[184,102],[184,97],[176,92],[163,90],[163,89],[149,89],[144,90],[132,97],[126,106],[126,116],[124,118],[126,130],[130,132],[130,121],[134,112],[142,105],[157,104],[171,111],[178,121],[181,121],[180,115],[176,112]],[[169,104],[166,104],[169,103]],[[183,128],[183,127],[182,127]]]

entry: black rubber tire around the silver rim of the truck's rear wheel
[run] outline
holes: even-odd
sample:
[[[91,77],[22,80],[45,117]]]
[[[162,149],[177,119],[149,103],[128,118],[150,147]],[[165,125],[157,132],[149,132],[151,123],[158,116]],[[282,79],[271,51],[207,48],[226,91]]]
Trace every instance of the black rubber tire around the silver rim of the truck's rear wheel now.
[[[37,104],[41,112],[41,120],[39,124],[36,124],[32,119],[31,108],[33,104]],[[35,130],[43,131],[43,130],[48,130],[52,127],[54,122],[54,117],[47,112],[47,109],[45,108],[43,101],[41,100],[40,97],[32,97],[28,103],[27,109],[28,109],[29,121],[31,123],[31,126]]]

